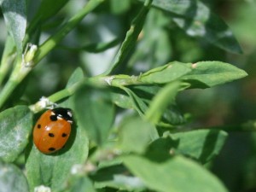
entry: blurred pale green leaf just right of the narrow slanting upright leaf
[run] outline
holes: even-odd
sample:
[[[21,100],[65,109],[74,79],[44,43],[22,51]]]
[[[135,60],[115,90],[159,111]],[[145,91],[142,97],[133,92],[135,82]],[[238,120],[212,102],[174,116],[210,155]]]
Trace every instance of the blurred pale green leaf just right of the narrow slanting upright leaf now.
[[[141,62],[147,63],[143,65],[143,70],[147,71],[170,61],[173,45],[170,44],[170,30],[166,28],[170,21],[170,18],[159,9],[150,9],[143,26],[143,38],[138,39],[137,49],[131,55],[128,67],[135,67]]]

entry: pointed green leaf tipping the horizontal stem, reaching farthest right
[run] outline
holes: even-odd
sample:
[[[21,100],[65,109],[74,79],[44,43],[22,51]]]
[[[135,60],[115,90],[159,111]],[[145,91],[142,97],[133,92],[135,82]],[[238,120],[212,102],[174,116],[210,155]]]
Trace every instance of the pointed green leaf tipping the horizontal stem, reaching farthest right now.
[[[193,70],[183,79],[193,88],[212,87],[247,76],[247,73],[240,68],[221,61],[201,61],[192,64],[192,68]]]

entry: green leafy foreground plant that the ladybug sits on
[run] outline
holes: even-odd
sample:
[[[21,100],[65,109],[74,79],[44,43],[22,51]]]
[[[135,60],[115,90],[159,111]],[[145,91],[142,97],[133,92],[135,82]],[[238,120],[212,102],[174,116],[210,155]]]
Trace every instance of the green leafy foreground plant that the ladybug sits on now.
[[[85,15],[99,13],[106,4],[127,9],[133,3],[135,16],[125,38],[77,49],[61,46]],[[211,88],[247,73],[222,61],[194,62],[193,54],[188,62],[170,61],[167,30],[160,30],[179,26],[188,36],[241,53],[224,21],[204,3],[189,0],[90,0],[62,24],[51,20],[66,4],[44,0],[28,23],[25,0],[1,3],[8,37],[0,67],[0,191],[34,191],[40,185],[52,191],[227,191],[205,167],[223,147],[227,132],[179,129],[188,118],[174,109],[175,101],[185,90]],[[53,34],[40,43],[47,27]],[[64,88],[34,104],[20,105],[22,90],[29,84],[26,77],[55,48],[99,53],[119,43],[104,73],[84,75],[77,67]],[[148,48],[152,49],[145,55]],[[138,72],[137,61],[147,56],[144,70]],[[72,108],[76,124],[67,146],[47,155],[34,147],[31,133],[33,116],[53,103]],[[114,123],[117,114],[121,121]]]

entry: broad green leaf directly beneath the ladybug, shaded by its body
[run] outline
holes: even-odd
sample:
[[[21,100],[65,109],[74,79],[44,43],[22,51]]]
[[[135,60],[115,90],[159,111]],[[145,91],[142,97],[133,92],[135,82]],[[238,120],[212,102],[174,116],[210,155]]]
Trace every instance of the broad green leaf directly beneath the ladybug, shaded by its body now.
[[[68,107],[71,108],[71,106]],[[76,116],[75,113],[74,116]],[[26,172],[31,191],[42,184],[53,191],[62,189],[72,166],[83,164],[87,159],[88,151],[88,137],[84,129],[77,126],[76,120],[65,148],[55,154],[42,154],[33,145],[26,160]]]

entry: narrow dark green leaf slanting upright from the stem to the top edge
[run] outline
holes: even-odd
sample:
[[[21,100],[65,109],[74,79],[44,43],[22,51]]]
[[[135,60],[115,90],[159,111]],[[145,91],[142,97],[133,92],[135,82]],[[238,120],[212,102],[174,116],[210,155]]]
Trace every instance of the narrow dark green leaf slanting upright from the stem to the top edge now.
[[[143,24],[148,14],[148,9],[150,7],[151,2],[152,0],[145,1],[145,4],[141,9],[141,11],[138,13],[136,18],[132,20],[131,27],[129,31],[126,32],[125,40],[123,44],[121,44],[121,47],[113,61],[113,65],[109,67],[107,72],[104,73],[105,75],[108,75],[109,73],[113,73],[113,70],[116,67],[119,67],[119,65],[123,64],[127,59],[127,56],[131,54],[131,50],[137,44],[137,38],[143,29]]]

